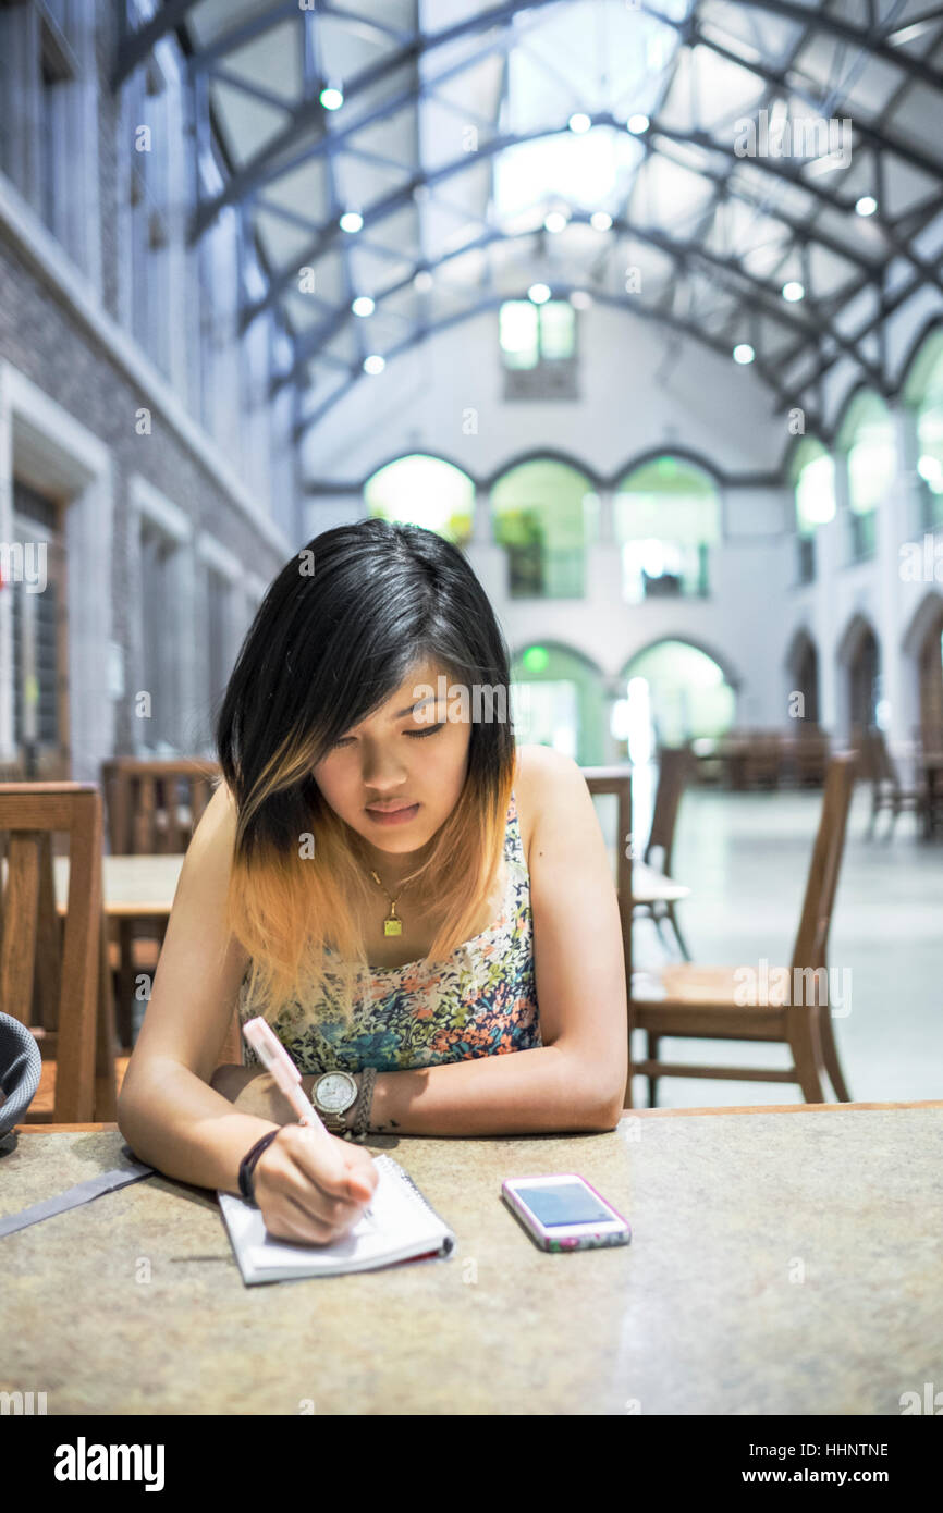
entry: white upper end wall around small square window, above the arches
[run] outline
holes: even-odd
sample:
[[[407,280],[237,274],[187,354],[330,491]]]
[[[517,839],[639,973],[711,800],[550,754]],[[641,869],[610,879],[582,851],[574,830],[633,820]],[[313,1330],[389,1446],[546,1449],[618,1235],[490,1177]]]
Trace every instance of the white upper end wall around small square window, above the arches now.
[[[720,472],[780,464],[787,418],[772,415],[773,395],[749,368],[602,306],[578,312],[578,343],[580,401],[506,402],[496,312],[453,327],[365,375],[304,437],[303,474],[359,481],[403,451],[431,451],[486,478],[549,445],[601,474],[671,443]],[[477,434],[466,434],[469,410]]]

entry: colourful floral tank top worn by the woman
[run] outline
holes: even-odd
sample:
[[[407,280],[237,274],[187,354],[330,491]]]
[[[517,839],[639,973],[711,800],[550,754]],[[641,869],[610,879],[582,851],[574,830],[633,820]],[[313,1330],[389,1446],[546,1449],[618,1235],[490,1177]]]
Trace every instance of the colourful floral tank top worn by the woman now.
[[[333,983],[327,968],[325,1000],[313,1012],[300,1002],[285,1005],[272,1030],[304,1073],[407,1071],[475,1056],[501,1056],[540,1045],[534,983],[530,873],[521,840],[515,796],[510,796],[504,837],[507,885],[501,914],[481,935],[459,946],[447,961],[371,968],[366,1002],[345,1023],[331,1015]],[[330,958],[331,947],[325,956]],[[339,997],[341,977],[338,982]],[[253,1017],[239,990],[239,1023]],[[259,1059],[242,1039],[242,1064]]]

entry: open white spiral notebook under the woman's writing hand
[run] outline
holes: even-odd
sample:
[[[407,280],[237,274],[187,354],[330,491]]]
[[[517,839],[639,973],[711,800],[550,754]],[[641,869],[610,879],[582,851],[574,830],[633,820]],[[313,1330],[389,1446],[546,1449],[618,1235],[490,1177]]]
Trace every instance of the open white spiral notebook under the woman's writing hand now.
[[[260,1209],[233,1192],[216,1192],[239,1271],[247,1286],[289,1277],[338,1277],[421,1256],[450,1256],[456,1236],[392,1156],[374,1156],[378,1182],[350,1233],[330,1245],[275,1239]]]

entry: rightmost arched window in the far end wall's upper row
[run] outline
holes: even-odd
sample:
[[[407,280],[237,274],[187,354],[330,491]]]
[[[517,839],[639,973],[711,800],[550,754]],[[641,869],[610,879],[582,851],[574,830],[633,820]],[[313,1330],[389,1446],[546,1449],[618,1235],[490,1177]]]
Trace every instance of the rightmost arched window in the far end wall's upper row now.
[[[655,457],[616,487],[622,593],[642,599],[708,593],[708,554],[720,540],[720,499],[707,474],[678,457]]]

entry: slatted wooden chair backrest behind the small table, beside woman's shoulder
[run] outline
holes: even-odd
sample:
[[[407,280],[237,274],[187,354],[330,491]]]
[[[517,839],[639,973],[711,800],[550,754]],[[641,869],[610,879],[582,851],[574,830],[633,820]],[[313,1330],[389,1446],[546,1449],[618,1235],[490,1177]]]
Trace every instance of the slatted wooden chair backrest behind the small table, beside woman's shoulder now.
[[[112,856],[185,852],[218,778],[218,763],[194,756],[101,763]]]

